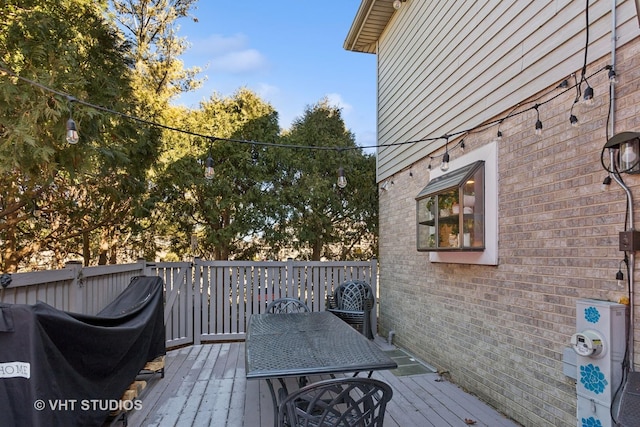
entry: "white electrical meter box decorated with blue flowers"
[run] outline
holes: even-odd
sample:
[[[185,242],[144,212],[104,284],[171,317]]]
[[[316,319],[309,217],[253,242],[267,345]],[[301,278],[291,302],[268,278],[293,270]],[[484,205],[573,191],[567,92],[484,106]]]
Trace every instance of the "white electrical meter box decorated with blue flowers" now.
[[[613,427],[610,408],[622,381],[627,341],[627,306],[610,301],[576,301],[577,426]]]

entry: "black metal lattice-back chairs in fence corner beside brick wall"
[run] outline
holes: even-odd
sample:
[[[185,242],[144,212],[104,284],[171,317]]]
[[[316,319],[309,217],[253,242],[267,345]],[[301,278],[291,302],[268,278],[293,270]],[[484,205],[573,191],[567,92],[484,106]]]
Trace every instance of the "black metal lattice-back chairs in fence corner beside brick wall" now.
[[[371,330],[371,310],[375,305],[371,286],[363,280],[350,280],[338,286],[333,295],[327,297],[327,311],[349,323],[369,339]]]

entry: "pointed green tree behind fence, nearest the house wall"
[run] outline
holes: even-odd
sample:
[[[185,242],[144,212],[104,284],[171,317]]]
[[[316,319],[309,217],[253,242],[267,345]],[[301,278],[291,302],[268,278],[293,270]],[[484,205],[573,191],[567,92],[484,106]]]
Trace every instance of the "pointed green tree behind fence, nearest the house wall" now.
[[[268,189],[271,225],[264,238],[273,255],[288,247],[312,260],[376,255],[375,158],[357,147],[340,110],[326,99],[307,107],[283,143],[318,148],[280,148],[271,157],[278,175]],[[337,185],[340,167],[345,188]]]

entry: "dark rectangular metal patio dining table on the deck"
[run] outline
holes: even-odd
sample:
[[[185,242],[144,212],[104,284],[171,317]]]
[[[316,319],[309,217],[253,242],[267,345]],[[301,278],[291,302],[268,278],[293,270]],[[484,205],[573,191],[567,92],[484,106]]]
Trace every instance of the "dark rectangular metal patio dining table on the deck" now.
[[[398,365],[373,341],[327,311],[253,314],[245,342],[247,379],[267,381],[277,420],[273,380],[371,372]]]

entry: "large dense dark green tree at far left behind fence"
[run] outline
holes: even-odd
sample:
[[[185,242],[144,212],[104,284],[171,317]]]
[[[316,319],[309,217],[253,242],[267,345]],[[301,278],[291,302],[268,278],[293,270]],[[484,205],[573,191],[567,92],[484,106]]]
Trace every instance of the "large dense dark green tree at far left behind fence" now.
[[[15,0],[0,8],[4,271],[43,251],[52,267],[70,254],[88,263],[92,233],[120,223],[144,188],[156,155],[152,131],[87,105],[135,109],[125,46],[105,13],[106,2],[91,0]],[[70,116],[80,133],[75,145],[65,142]]]

